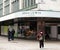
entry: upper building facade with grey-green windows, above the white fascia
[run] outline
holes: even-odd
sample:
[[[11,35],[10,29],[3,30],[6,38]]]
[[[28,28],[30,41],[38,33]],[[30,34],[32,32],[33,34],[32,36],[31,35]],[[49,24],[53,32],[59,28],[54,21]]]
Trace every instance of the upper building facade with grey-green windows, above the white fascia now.
[[[1,0],[0,16],[23,10],[60,11],[60,0]]]

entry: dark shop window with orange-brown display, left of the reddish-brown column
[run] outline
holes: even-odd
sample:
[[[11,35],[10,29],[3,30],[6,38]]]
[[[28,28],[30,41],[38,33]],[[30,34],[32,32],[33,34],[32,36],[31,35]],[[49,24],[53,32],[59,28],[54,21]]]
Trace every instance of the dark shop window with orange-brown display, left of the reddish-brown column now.
[[[37,21],[23,21],[18,23],[18,37],[36,38],[36,33]]]

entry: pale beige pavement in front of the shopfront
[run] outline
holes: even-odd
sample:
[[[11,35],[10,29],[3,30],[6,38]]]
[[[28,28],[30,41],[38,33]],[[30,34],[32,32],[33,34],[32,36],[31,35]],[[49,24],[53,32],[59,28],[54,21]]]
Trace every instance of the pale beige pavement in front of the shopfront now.
[[[60,50],[60,41],[47,41],[43,50]],[[40,50],[39,42],[35,40],[15,39],[8,41],[6,37],[0,37],[0,50]]]

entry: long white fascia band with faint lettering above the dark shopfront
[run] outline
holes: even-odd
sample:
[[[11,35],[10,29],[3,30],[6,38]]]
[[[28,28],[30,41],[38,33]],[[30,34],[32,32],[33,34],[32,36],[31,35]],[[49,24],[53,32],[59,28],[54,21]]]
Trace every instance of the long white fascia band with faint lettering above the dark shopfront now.
[[[58,11],[19,11],[3,17],[0,17],[0,21],[5,21],[14,18],[21,17],[54,17],[60,18],[60,12]]]

